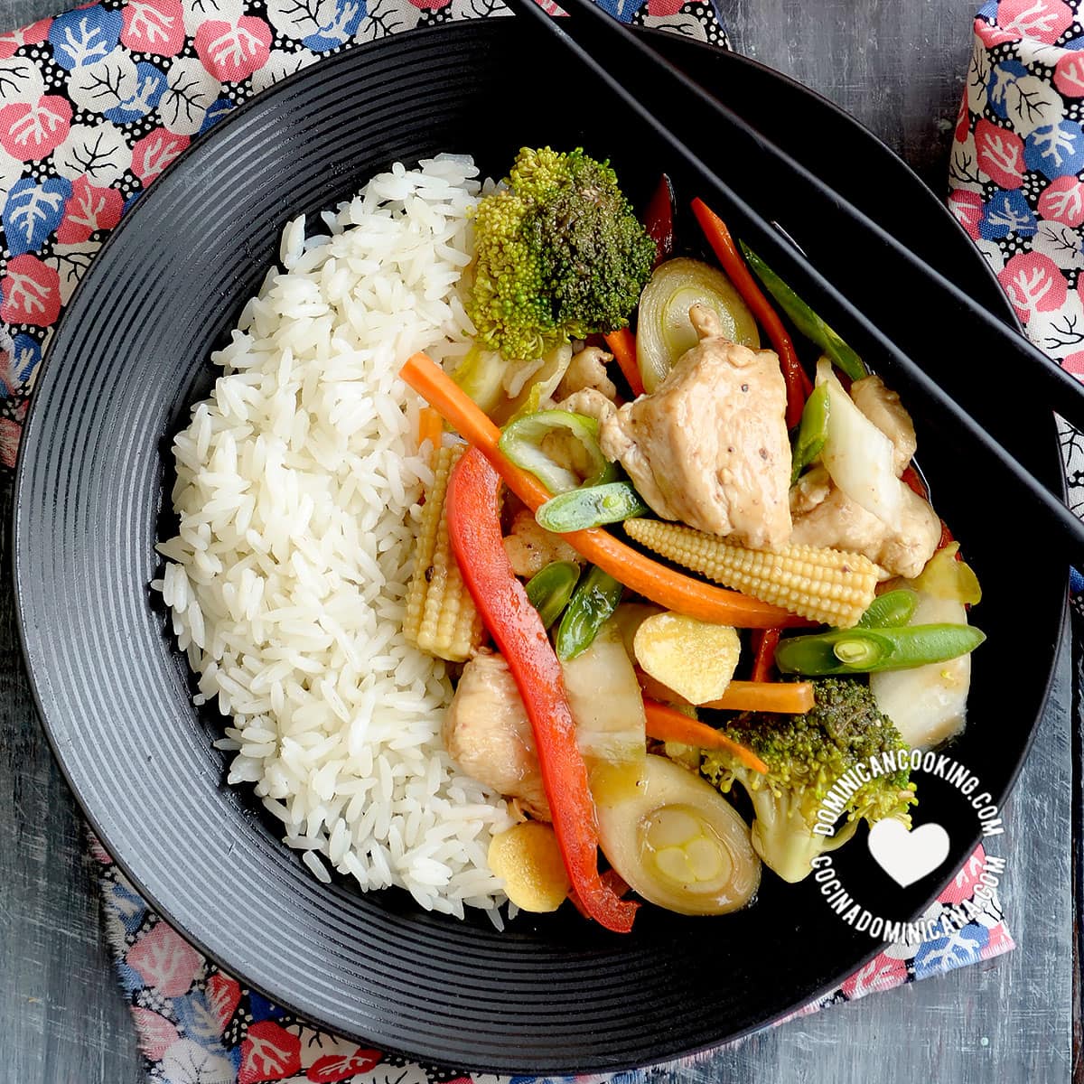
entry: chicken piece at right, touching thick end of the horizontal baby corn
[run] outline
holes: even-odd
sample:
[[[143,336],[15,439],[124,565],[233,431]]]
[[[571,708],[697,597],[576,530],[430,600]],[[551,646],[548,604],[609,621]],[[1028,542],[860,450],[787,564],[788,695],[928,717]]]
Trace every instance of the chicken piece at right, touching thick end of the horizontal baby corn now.
[[[900,490],[899,530],[833,487],[820,504],[796,516],[790,544],[861,553],[893,576],[918,576],[941,541],[941,520],[929,502],[903,482]]]

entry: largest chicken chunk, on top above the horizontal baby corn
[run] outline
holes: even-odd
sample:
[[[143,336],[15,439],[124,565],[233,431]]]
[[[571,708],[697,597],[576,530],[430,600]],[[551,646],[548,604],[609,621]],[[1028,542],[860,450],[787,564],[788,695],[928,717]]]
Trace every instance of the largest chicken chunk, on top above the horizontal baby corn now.
[[[601,425],[603,453],[620,460],[663,519],[754,550],[790,537],[787,388],[772,350],[724,338],[719,317],[694,305],[700,338],[648,396]]]

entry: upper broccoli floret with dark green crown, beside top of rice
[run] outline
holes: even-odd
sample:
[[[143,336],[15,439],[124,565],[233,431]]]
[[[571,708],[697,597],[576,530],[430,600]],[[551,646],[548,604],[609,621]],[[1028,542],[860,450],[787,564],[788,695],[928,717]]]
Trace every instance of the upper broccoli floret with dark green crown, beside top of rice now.
[[[625,326],[654,259],[655,243],[606,163],[582,150],[525,147],[505,186],[475,212],[467,312],[485,346],[539,358]]]

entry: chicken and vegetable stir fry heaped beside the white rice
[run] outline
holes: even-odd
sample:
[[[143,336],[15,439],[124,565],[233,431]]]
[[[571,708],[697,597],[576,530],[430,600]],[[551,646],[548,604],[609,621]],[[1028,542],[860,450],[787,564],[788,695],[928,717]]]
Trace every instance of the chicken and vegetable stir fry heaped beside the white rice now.
[[[435,475],[405,631],[462,664],[448,751],[521,817],[490,865],[616,931],[909,825],[904,769],[813,830],[849,769],[958,732],[983,640],[899,397],[693,211],[675,237],[668,179],[642,223],[605,163],[521,151],[476,212],[472,352],[402,372]]]

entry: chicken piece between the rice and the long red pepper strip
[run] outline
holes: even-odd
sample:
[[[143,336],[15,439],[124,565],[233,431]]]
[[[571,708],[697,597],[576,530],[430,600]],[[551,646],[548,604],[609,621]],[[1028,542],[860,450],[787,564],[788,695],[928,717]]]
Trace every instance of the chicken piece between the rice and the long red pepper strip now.
[[[551,820],[534,734],[503,656],[480,651],[463,668],[440,734],[467,775],[537,820]]]

